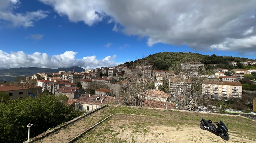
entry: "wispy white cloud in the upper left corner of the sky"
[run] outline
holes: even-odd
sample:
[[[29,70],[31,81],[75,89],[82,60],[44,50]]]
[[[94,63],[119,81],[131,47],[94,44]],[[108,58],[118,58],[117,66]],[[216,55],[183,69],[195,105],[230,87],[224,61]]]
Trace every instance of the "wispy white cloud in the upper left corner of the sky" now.
[[[46,18],[48,11],[33,11],[26,13],[15,13],[14,10],[20,5],[19,0],[1,0],[0,1],[0,19],[8,21],[13,27],[34,26],[34,21]]]

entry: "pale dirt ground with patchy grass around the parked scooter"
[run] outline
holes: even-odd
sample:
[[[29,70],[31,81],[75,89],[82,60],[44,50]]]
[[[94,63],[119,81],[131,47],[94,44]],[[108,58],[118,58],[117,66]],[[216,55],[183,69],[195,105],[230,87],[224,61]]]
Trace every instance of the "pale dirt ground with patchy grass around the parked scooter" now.
[[[236,130],[229,130],[230,140],[225,141],[209,131],[202,130],[199,127],[199,121],[187,121],[187,124],[179,125],[179,122],[170,122],[169,120],[169,118],[154,116],[115,114],[76,142],[251,143],[256,141],[256,137],[253,139],[247,137],[246,131],[240,133]]]

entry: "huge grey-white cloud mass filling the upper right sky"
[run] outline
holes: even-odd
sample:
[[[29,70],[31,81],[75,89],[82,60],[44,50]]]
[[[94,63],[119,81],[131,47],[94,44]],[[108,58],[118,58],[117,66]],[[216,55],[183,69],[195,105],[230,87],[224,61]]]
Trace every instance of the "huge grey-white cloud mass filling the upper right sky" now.
[[[93,25],[104,18],[110,19],[108,23],[115,23],[113,31],[146,37],[150,47],[165,43],[207,51],[227,42],[229,49],[243,51],[247,47],[230,47],[232,43],[228,42],[256,36],[255,0],[40,1],[53,6],[60,16],[67,16],[72,22]]]

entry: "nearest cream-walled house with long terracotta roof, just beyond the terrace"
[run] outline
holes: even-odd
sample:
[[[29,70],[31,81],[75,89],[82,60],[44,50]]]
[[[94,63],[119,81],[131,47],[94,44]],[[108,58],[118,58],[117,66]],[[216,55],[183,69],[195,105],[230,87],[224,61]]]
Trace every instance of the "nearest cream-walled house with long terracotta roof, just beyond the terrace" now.
[[[75,110],[91,111],[106,104],[121,106],[123,99],[120,97],[98,96],[98,95],[82,95],[75,101]]]

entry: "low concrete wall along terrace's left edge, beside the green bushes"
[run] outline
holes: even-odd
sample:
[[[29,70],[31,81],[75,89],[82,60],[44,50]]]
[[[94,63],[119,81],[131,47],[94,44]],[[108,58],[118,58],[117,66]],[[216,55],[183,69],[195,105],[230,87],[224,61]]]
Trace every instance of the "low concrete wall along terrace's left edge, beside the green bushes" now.
[[[39,134],[38,136],[32,138],[30,141],[26,141],[25,143],[32,143],[32,142],[37,141],[37,140],[40,140],[40,139],[42,139],[42,138],[44,138],[44,137],[46,137],[46,136],[49,136],[50,134],[52,134],[52,133],[54,133],[54,132],[56,132],[56,131],[58,131],[58,130],[60,130],[60,129],[62,129],[62,128],[68,126],[68,125],[70,125],[71,123],[74,123],[74,122],[76,122],[77,120],[80,120],[80,119],[82,119],[82,118],[84,118],[84,117],[86,117],[86,116],[88,116],[88,115],[90,115],[90,114],[92,114],[92,113],[94,113],[94,112],[96,112],[96,111],[98,111],[98,110],[100,110],[100,109],[103,109],[103,108],[105,108],[105,107],[106,107],[106,105],[104,105],[104,106],[102,106],[102,107],[100,107],[100,108],[97,108],[97,109],[95,109],[95,110],[92,110],[92,111],[90,111],[90,112],[88,112],[88,113],[86,113],[86,114],[84,114],[84,115],[82,115],[82,116],[76,117],[76,118],[74,118],[74,119],[72,119],[72,120],[66,122],[65,124],[59,126],[59,127],[55,127],[55,128],[53,128],[52,130],[49,130],[49,131],[46,131],[46,132],[44,132],[44,133]]]

